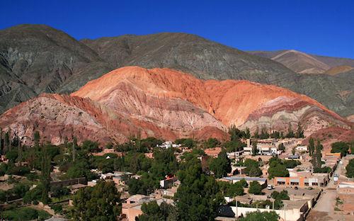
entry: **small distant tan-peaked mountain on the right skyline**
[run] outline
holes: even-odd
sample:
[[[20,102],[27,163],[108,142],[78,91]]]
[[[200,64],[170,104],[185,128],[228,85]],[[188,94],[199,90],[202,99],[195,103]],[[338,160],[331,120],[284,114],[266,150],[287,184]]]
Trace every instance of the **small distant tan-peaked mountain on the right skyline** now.
[[[354,67],[353,59],[309,55],[297,50],[251,51],[249,53],[280,62],[300,74],[322,74],[329,69],[332,69],[329,73],[340,73],[340,71],[349,71],[349,67]]]

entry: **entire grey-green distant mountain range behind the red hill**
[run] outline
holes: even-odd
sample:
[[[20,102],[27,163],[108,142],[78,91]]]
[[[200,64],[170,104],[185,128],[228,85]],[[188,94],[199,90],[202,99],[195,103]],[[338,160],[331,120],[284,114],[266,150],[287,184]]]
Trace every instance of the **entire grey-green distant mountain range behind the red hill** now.
[[[137,65],[178,69],[199,79],[275,84],[347,116],[354,114],[353,70],[322,73],[352,66],[350,61],[293,51],[243,52],[185,33],[78,41],[48,26],[14,26],[0,30],[0,112],[42,92],[71,93],[112,69]],[[321,74],[299,74],[311,69]]]

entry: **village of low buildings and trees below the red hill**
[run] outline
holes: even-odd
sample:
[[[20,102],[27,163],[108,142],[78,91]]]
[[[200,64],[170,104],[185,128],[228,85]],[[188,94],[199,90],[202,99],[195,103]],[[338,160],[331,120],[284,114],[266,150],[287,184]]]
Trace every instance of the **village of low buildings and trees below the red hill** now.
[[[57,149],[50,147],[47,151],[55,153],[47,202],[35,196],[42,169],[36,169],[40,165],[35,162],[24,160],[34,159],[18,142],[16,148],[1,155],[1,210],[34,208],[42,211],[38,212],[38,216],[42,213],[42,220],[69,220],[77,204],[73,196],[105,181],[113,183],[120,193],[118,219],[134,221],[144,215],[144,207],[151,203],[175,206],[181,181],[173,167],[195,157],[193,163],[200,164],[203,173],[214,176],[222,192],[224,203],[215,211],[215,220],[235,220],[256,211],[273,211],[280,220],[290,221],[316,220],[316,212],[328,211],[331,218],[353,216],[354,181],[346,176],[350,160],[354,161],[350,154],[353,147],[336,152],[336,145],[332,145],[334,149],[327,152],[317,147],[319,142],[312,143],[314,140],[304,145],[305,138],[301,136],[260,139],[246,138],[239,132],[236,129],[236,138],[229,132],[231,141],[224,143],[215,138],[172,142],[150,137],[118,147],[106,145],[103,149],[89,141],[81,146],[71,142]],[[30,148],[35,149],[36,145]],[[87,157],[83,154],[89,156],[92,165],[73,163]],[[313,159],[318,157],[320,167],[316,168]],[[223,170],[225,160],[230,168]],[[144,164],[150,167],[144,169]],[[6,165],[14,165],[18,171],[6,169]],[[162,179],[156,181],[154,176]]]

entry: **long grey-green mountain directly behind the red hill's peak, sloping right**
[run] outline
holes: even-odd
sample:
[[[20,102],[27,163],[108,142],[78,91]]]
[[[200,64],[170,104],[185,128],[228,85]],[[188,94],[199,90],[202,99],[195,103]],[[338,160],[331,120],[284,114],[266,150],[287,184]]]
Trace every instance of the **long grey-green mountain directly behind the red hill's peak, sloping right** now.
[[[200,79],[247,79],[262,84],[275,84],[299,94],[306,94],[341,115],[354,113],[352,77],[340,79],[322,74],[297,74],[267,57],[251,55],[196,35],[123,35],[81,42],[96,51],[112,67],[169,67],[191,73]],[[340,64],[329,57],[320,58],[330,60],[331,64]],[[315,64],[323,63],[316,62],[316,59],[309,60],[315,60]],[[322,68],[326,69],[326,65]]]

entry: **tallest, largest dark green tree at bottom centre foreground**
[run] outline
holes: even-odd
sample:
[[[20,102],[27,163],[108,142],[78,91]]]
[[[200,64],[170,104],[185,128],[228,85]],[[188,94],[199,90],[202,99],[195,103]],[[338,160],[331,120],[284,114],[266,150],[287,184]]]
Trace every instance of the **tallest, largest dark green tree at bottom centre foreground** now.
[[[215,178],[203,174],[200,164],[192,164],[178,179],[181,185],[174,198],[181,220],[214,220],[224,202]]]

